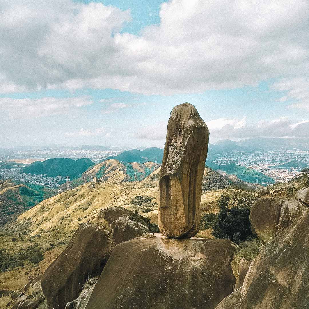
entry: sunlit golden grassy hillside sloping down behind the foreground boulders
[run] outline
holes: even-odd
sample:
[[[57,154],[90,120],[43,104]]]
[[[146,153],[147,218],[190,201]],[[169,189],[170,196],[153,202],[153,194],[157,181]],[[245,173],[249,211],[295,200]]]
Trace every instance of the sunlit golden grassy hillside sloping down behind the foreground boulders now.
[[[202,194],[203,212],[218,211],[217,200],[222,192]],[[83,184],[40,202],[0,229],[0,250],[7,261],[7,269],[1,273],[2,289],[21,288],[30,278],[43,273],[78,226],[91,222],[100,209],[122,206],[158,222],[157,196],[158,187],[138,182],[99,183],[94,188]],[[43,260],[35,263],[32,252],[37,251],[43,254]]]

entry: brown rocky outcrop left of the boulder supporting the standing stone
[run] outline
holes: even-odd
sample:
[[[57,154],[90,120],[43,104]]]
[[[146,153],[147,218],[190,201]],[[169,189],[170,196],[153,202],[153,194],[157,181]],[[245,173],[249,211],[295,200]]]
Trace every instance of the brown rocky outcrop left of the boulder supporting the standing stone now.
[[[42,276],[47,308],[62,309],[78,298],[89,277],[101,274],[116,244],[150,233],[143,220],[141,215],[116,206],[101,210],[96,224],[81,226]]]

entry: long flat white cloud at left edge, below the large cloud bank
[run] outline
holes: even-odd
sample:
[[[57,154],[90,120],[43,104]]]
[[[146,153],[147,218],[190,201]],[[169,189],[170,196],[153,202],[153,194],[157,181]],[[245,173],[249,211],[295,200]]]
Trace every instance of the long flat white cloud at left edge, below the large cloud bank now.
[[[1,115],[12,119],[37,118],[50,115],[71,115],[79,108],[93,104],[89,96],[40,99],[0,98]]]

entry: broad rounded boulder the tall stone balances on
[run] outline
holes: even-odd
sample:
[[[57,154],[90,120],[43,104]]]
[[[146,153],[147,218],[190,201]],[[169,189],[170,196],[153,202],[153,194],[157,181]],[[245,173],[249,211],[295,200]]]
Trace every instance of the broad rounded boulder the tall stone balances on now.
[[[226,239],[133,239],[117,245],[86,309],[208,309],[233,292]]]

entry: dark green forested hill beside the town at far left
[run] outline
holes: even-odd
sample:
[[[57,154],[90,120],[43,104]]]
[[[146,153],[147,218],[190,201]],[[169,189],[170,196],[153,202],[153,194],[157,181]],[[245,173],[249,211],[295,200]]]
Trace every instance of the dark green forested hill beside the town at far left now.
[[[78,178],[94,163],[88,159],[73,160],[69,158],[48,159],[43,162],[36,161],[23,168],[24,173],[46,174],[49,177],[70,176],[71,179]]]

